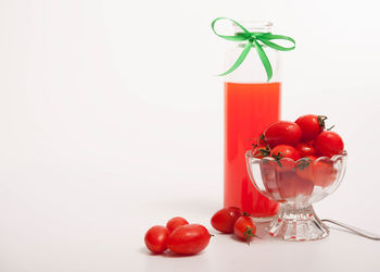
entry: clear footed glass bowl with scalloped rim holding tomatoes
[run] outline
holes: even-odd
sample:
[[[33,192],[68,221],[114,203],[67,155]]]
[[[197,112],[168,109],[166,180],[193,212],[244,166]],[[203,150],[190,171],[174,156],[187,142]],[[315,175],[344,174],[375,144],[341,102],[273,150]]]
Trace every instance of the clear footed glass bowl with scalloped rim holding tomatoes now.
[[[278,215],[267,227],[268,235],[284,240],[314,240],[329,235],[329,228],[315,214],[317,202],[340,185],[346,168],[347,153],[315,161],[303,158],[257,159],[246,151],[246,168],[253,185],[264,196],[281,205]]]

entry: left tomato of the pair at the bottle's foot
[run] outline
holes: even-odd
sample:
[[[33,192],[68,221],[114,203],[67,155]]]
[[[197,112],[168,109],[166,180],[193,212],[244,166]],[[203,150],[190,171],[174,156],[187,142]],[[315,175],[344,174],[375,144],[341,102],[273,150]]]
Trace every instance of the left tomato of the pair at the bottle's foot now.
[[[223,233],[233,233],[235,222],[242,215],[239,208],[230,207],[218,210],[211,219],[212,226]]]

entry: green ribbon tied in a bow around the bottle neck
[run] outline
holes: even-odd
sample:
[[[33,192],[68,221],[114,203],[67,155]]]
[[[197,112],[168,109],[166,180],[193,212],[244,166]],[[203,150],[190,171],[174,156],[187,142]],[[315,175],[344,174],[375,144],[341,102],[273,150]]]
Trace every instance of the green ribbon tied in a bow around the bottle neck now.
[[[220,20],[231,21],[237,26],[239,26],[242,32],[237,33],[235,36],[226,36],[226,35],[217,34],[215,30],[215,24],[217,21],[220,21]],[[232,73],[235,70],[237,70],[240,66],[240,64],[243,63],[243,61],[245,60],[251,48],[254,47],[254,48],[256,48],[257,54],[258,54],[258,57],[259,57],[259,59],[265,67],[265,71],[267,74],[267,81],[269,82],[274,72],[271,70],[269,59],[263,49],[263,45],[270,47],[273,49],[279,50],[279,51],[290,51],[290,50],[293,50],[295,48],[295,40],[292,39],[291,37],[283,36],[283,35],[274,35],[271,33],[250,33],[249,30],[246,30],[246,28],[244,26],[242,26],[241,24],[239,24],[235,20],[228,18],[228,17],[215,18],[213,21],[213,23],[211,24],[211,27],[213,28],[213,32],[215,33],[215,35],[219,36],[220,38],[224,38],[227,40],[232,40],[232,41],[246,41],[244,49],[241,52],[241,54],[239,55],[238,60],[233,63],[233,65],[229,70],[227,70],[223,74],[219,74],[219,76],[228,75],[229,73]],[[293,42],[293,46],[292,47],[282,47],[282,46],[279,46],[277,44],[273,42],[271,40],[274,40],[274,39],[289,40],[289,41]],[[263,45],[261,45],[258,41],[261,41]]]

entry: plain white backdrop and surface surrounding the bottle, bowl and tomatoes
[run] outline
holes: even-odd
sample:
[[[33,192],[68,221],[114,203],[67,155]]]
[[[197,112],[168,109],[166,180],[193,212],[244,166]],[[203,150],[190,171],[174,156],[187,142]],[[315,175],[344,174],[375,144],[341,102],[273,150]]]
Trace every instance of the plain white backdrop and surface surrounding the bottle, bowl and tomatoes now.
[[[380,233],[376,1],[0,1],[0,271],[379,271],[379,242],[217,235],[150,256],[175,215],[211,228],[223,196],[223,55],[213,18],[269,20],[282,118],[329,116],[349,151],[321,218]],[[339,259],[339,260],[338,260]]]

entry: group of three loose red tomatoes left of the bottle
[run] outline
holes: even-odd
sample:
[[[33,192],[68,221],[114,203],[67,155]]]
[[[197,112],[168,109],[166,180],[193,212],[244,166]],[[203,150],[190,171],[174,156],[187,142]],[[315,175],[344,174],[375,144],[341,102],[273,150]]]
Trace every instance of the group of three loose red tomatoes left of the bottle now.
[[[149,228],[144,242],[154,254],[162,254],[168,248],[179,255],[195,255],[207,247],[210,237],[203,225],[189,224],[183,218],[173,218],[166,226],[155,225]]]

